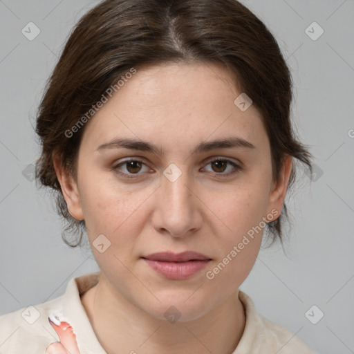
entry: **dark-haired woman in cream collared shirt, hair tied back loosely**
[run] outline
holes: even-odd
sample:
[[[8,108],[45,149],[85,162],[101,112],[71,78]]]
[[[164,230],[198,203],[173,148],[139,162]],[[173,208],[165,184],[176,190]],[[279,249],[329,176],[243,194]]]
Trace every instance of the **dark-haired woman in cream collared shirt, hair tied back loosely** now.
[[[291,99],[277,42],[237,1],[89,11],[39,107],[37,179],[100,272],[32,324],[0,317],[19,326],[1,354],[314,353],[239,290],[263,230],[281,240],[294,159],[311,169]]]

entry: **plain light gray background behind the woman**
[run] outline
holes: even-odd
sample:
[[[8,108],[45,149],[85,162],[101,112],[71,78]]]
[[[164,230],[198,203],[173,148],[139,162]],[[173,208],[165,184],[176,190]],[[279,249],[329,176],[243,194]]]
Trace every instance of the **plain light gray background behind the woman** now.
[[[33,127],[44,84],[69,31],[97,2],[0,0],[0,315],[58,297],[69,279],[97,270],[91,252],[62,242],[53,203],[30,175],[39,153]],[[317,174],[312,183],[303,174],[286,199],[293,220],[287,256],[279,245],[261,250],[241,290],[259,313],[313,350],[354,353],[354,1],[243,3],[287,58],[295,83],[293,120],[316,158]],[[30,21],[41,30],[32,41],[21,33]],[[305,31],[313,21],[324,30],[317,40]],[[305,315],[313,305],[324,313],[317,324]],[[310,311],[313,321],[317,308]]]

